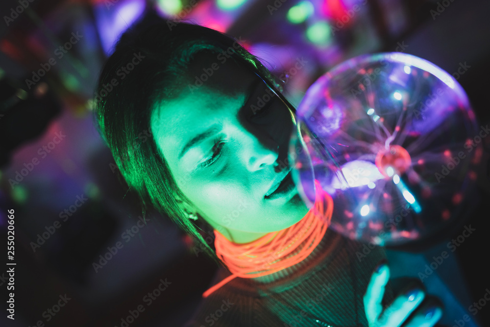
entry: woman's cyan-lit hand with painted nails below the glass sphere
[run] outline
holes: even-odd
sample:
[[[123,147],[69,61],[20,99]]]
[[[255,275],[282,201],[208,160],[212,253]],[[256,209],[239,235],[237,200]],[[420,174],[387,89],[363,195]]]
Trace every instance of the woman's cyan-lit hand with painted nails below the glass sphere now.
[[[386,263],[381,263],[372,274],[364,295],[369,327],[398,327],[402,324],[404,327],[431,327],[441,319],[441,304],[435,298],[426,297],[418,286],[407,289],[383,310],[381,300],[389,279],[390,269]]]

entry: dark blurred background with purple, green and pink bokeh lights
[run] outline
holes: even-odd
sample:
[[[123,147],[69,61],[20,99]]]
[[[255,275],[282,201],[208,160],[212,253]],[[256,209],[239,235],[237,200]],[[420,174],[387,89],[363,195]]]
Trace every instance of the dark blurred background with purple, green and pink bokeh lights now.
[[[237,3],[233,6],[233,2]],[[26,0],[27,7],[19,7],[17,16],[12,10],[20,6],[18,1],[1,2],[0,244],[6,255],[6,214],[14,208],[17,263],[16,319],[6,319],[2,309],[1,326],[34,326],[40,320],[46,326],[121,326],[121,318],[139,304],[145,305],[145,312],[130,326],[180,326],[209,286],[217,266],[202,252],[196,255],[189,238],[167,217],[150,212],[147,226],[138,227],[129,238],[123,236],[137,226],[141,206],[127,192],[92,121],[89,100],[94,97],[98,72],[117,36],[147,9],[241,37],[245,47],[277,75],[290,72],[303,57],[308,64],[285,85],[285,95],[295,105],[320,75],[363,53],[406,52],[450,74],[466,63],[469,68],[458,82],[480,123],[490,121],[489,1],[238,2]],[[354,5],[360,10],[349,17]],[[298,20],[293,21],[288,14],[298,8],[306,14],[293,15]],[[346,23],[338,24],[343,18]],[[59,57],[61,52],[55,50],[76,32],[83,37]],[[55,64],[47,66],[52,58]],[[46,75],[34,85],[27,83],[42,67],[49,67]],[[49,147],[60,131],[66,137],[59,144],[51,144],[49,153],[39,150]],[[490,140],[484,142],[488,147]],[[35,158],[39,163],[32,171],[11,185],[9,179]],[[490,287],[487,161],[486,154],[478,178],[482,201],[472,204],[466,222],[477,230],[455,252],[466,277],[461,283],[468,285],[473,301]],[[76,207],[77,197],[87,200]],[[63,221],[60,212],[71,206],[76,210]],[[60,227],[33,251],[31,242],[55,221]],[[96,272],[94,262],[99,263],[99,255],[117,242],[123,247]],[[8,281],[4,279],[7,266],[1,267],[3,308]],[[171,282],[167,290],[147,306],[145,295],[166,278]],[[43,312],[65,294],[71,300],[47,322]],[[487,304],[475,319],[488,319],[489,309]]]

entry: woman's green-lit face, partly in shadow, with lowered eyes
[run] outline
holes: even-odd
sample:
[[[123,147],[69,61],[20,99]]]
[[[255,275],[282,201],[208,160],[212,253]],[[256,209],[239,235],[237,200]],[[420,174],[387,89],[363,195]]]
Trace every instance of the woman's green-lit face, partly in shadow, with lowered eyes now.
[[[192,202],[186,209],[237,243],[298,222],[308,209],[295,187],[266,196],[291,170],[293,113],[231,59],[200,56],[189,75],[192,82],[151,117],[156,144]]]

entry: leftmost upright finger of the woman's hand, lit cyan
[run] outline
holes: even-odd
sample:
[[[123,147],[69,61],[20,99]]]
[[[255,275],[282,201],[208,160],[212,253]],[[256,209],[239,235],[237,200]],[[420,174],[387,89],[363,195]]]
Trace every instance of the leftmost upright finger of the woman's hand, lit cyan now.
[[[383,311],[383,295],[385,294],[385,286],[390,279],[390,269],[386,262],[378,265],[377,269],[371,275],[366,294],[364,295],[364,309],[369,323],[377,320]]]

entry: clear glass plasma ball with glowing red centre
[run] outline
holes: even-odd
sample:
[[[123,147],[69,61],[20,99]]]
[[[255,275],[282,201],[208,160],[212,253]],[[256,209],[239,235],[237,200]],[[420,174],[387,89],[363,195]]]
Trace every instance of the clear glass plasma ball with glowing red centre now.
[[[294,182],[312,208],[317,179],[334,200],[329,228],[351,239],[427,240],[471,200],[483,126],[458,82],[426,60],[347,60],[310,86],[296,114]]]

